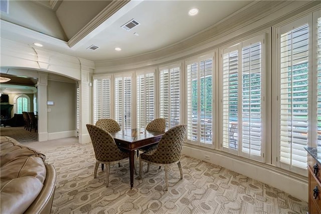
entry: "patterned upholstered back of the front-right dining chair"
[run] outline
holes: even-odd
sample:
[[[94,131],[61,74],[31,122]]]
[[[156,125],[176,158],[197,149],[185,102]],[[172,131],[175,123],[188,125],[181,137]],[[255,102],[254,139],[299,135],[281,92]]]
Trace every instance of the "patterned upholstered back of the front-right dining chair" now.
[[[163,135],[156,151],[152,154],[156,163],[170,164],[180,160],[186,130],[186,124],[178,125]]]

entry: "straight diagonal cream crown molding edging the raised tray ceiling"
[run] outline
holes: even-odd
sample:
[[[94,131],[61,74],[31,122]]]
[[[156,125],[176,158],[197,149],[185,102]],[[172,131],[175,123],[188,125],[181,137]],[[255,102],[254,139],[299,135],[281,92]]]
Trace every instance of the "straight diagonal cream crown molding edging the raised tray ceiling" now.
[[[103,24],[108,18],[114,15],[118,10],[124,7],[129,0],[117,1],[113,0],[106,8],[104,8],[95,18],[93,18],[85,27],[83,27],[69,41],[69,47],[75,46],[80,40],[84,39],[88,34],[93,32],[99,25]]]

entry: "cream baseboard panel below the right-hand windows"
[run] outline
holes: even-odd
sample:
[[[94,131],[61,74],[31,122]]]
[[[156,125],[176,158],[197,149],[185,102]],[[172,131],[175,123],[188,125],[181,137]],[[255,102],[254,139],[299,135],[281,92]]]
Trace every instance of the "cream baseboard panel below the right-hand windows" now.
[[[282,169],[276,169],[276,167],[268,164],[260,166],[259,164],[251,163],[251,161],[238,159],[228,153],[223,154],[221,151],[203,150],[188,144],[184,145],[183,154],[222,166],[226,169],[278,188],[300,200],[308,201],[307,177],[306,179],[300,175],[296,177],[293,173],[284,172]],[[209,160],[205,160],[205,155],[209,157]],[[295,188],[293,188],[294,186]]]

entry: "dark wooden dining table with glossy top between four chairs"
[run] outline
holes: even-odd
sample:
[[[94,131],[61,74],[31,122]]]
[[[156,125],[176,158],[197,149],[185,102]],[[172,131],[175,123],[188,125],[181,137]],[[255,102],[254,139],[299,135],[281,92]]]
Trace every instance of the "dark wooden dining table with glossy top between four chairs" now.
[[[145,129],[124,129],[110,133],[119,148],[129,152],[130,188],[134,185],[135,150],[148,145],[154,145],[161,140],[165,132],[151,132]]]

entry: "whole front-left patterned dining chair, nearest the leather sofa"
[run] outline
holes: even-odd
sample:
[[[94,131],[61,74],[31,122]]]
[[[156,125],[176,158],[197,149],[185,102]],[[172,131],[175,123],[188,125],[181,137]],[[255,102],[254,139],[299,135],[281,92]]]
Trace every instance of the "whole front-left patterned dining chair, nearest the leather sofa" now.
[[[106,130],[92,124],[86,124],[86,127],[94,147],[96,158],[94,178],[97,176],[99,163],[106,164],[106,187],[108,187],[110,163],[129,158],[129,153],[120,151],[113,137]]]

